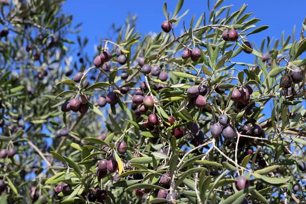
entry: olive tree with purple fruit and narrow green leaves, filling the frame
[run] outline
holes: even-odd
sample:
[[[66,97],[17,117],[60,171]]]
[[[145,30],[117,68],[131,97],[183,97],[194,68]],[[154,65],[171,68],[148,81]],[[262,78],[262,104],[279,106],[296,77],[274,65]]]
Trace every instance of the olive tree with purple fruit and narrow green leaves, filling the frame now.
[[[63,2],[2,2],[1,203],[305,201],[305,21],[258,47],[246,5],[187,23],[180,0],[157,35],[129,16],[72,62]]]

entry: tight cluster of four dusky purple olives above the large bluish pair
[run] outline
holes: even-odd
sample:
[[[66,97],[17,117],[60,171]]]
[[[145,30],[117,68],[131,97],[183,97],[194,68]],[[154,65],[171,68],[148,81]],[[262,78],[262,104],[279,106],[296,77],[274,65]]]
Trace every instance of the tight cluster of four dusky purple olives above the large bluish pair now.
[[[207,105],[205,95],[208,89],[205,85],[199,85],[198,87],[190,86],[187,89],[187,95],[190,97],[190,101],[187,108],[193,109],[194,107],[204,108]]]

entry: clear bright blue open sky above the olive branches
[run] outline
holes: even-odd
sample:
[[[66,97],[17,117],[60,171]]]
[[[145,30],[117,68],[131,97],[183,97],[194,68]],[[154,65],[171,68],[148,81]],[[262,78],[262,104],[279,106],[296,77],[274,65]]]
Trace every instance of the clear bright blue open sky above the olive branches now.
[[[160,32],[161,22],[165,20],[162,9],[164,2],[165,0],[67,0],[64,4],[64,10],[65,12],[73,14],[74,24],[83,22],[83,31],[80,35],[89,38],[86,51],[89,54],[94,54],[93,45],[98,44],[99,38],[109,37],[107,31],[112,23],[115,23],[117,26],[122,25],[128,11],[132,15],[135,13],[138,15],[137,30],[140,33],[149,33],[150,31]],[[210,2],[213,5],[213,1]],[[177,0],[168,0],[168,11],[173,12],[176,3]],[[254,13],[252,15],[253,17],[262,19],[257,24],[258,26],[270,25],[270,28],[266,31],[250,36],[251,40],[254,40],[258,45],[260,45],[262,39],[267,35],[270,37],[275,36],[279,39],[283,31],[287,35],[291,34],[294,25],[296,25],[296,38],[299,36],[301,23],[305,17],[305,0],[225,0],[221,6],[232,4],[234,6],[231,11],[234,12],[243,3],[248,5],[246,9],[247,13]],[[194,14],[196,15],[195,19],[197,19],[202,12],[208,13],[207,1],[185,0],[180,14],[187,9],[190,9],[190,11],[184,17],[184,20],[190,22]],[[179,28],[182,28],[182,24],[183,21],[178,25]]]

